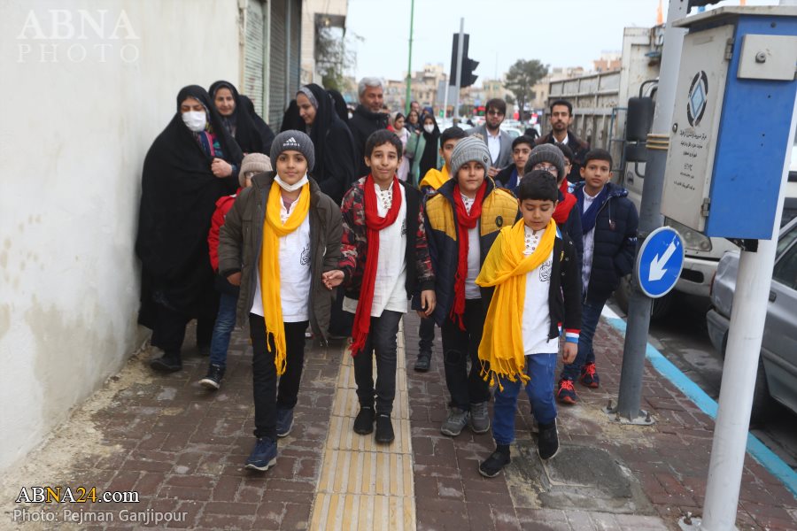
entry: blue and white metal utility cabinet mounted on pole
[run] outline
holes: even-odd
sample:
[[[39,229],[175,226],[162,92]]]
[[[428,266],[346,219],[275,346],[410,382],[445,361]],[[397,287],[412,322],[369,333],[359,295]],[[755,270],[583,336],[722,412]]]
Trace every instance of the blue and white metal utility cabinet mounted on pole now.
[[[797,7],[722,7],[689,28],[662,213],[708,236],[772,238],[797,95]]]

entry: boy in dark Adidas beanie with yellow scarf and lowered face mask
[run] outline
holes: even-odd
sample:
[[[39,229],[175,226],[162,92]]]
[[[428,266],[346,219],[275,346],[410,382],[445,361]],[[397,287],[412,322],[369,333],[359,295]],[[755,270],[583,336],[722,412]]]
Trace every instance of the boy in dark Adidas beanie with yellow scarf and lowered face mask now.
[[[293,426],[307,324],[326,342],[331,289],[339,283],[321,276],[337,269],[343,223],[337,204],[307,176],[314,158],[309,136],[277,135],[276,172],[252,177],[221,227],[219,270],[241,287],[237,322],[248,319],[250,327],[258,439],[246,467],[253,470],[276,464],[277,437]]]

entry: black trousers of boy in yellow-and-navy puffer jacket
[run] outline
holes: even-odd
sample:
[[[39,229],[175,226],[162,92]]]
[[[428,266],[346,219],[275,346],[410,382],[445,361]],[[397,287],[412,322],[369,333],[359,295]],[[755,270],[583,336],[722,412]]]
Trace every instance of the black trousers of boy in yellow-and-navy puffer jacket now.
[[[443,365],[451,404],[468,412],[470,404],[481,404],[490,400],[490,386],[482,378],[482,364],[479,361],[479,342],[482,341],[484,330],[484,306],[481,299],[465,301],[462,321],[464,330],[451,318],[446,318],[443,323]]]

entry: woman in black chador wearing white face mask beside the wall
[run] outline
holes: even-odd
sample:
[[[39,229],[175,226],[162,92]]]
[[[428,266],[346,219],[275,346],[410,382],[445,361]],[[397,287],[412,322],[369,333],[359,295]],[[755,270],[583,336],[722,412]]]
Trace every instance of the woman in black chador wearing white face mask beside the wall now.
[[[135,252],[142,262],[139,322],[164,350],[152,368],[182,368],[185,327],[197,319],[197,346],[209,345],[218,294],[207,232],[216,201],[236,191],[243,155],[205,89],[185,87],[177,112],[144,159]]]

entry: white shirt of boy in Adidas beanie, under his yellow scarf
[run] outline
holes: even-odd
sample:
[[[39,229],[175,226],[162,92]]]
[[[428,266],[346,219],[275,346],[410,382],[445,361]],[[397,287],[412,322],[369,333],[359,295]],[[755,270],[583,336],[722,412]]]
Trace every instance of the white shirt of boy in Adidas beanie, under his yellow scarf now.
[[[280,219],[284,224],[290,216],[298,199],[286,209],[280,201]],[[310,319],[310,214],[298,228],[279,238],[280,242],[280,299],[282,302],[282,322],[298,323]],[[263,295],[260,291],[260,274],[256,272],[254,300],[251,313],[263,315]]]

